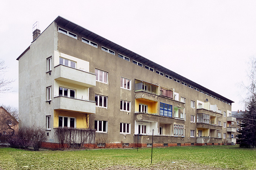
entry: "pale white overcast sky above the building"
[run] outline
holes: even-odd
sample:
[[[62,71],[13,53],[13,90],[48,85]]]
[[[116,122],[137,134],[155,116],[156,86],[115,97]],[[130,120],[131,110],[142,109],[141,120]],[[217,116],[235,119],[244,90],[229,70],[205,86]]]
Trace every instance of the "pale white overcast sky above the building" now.
[[[2,1],[0,59],[16,81],[0,105],[18,107],[16,58],[32,25],[43,32],[58,15],[233,100],[232,111],[245,109],[239,83],[256,56],[255,0]]]

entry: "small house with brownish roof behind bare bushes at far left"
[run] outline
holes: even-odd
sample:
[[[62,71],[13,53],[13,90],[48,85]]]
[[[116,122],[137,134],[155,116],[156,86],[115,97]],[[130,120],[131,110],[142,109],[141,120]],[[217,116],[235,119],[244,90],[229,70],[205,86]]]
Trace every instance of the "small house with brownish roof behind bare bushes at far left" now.
[[[18,121],[3,106],[0,107],[0,143],[6,142],[6,136],[18,131]]]

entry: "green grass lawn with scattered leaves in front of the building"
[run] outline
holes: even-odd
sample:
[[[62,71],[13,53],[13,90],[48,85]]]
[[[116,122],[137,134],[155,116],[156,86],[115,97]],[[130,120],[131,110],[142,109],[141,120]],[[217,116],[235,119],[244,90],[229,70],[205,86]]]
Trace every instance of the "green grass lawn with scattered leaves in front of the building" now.
[[[172,163],[173,162],[173,163]],[[256,169],[256,149],[187,146],[146,149],[29,151],[0,148],[0,169]],[[121,167],[121,168],[120,168]]]

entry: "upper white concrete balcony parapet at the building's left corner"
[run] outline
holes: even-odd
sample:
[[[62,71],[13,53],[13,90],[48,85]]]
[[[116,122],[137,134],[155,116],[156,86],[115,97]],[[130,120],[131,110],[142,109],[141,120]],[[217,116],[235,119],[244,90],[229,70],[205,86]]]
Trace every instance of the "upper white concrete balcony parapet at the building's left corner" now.
[[[54,79],[85,87],[93,87],[96,85],[95,74],[65,65],[57,65],[54,67]]]

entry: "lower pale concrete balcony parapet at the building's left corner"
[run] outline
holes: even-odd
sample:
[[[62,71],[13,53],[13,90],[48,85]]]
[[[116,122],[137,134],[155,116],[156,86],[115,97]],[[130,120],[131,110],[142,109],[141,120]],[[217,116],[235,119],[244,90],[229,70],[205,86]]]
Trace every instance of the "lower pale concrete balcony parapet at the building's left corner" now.
[[[91,100],[81,100],[64,96],[56,96],[53,99],[53,109],[62,111],[80,112],[85,114],[95,114],[95,102]]]

